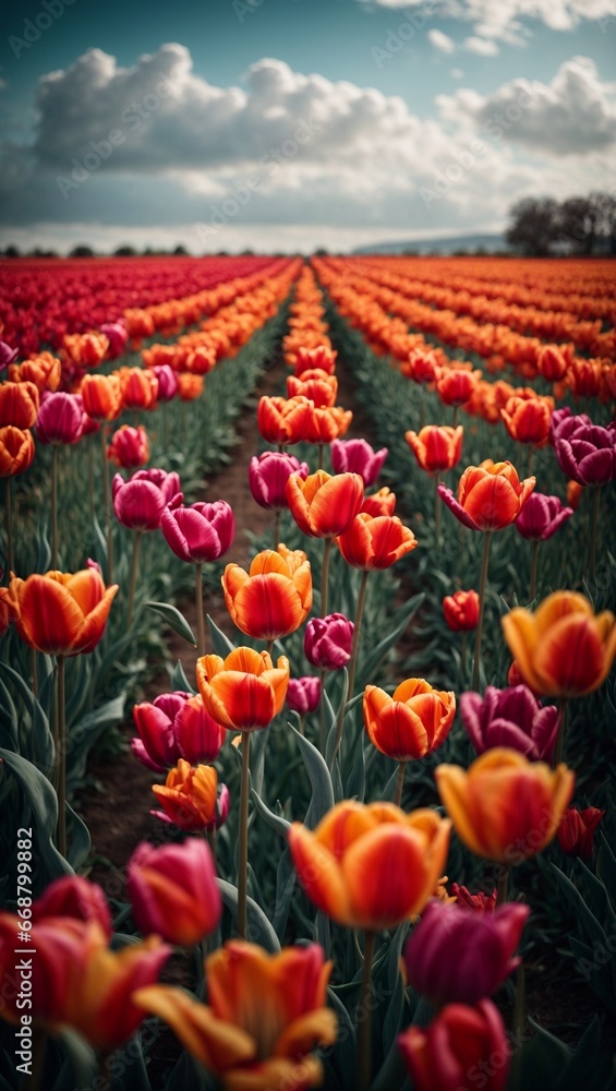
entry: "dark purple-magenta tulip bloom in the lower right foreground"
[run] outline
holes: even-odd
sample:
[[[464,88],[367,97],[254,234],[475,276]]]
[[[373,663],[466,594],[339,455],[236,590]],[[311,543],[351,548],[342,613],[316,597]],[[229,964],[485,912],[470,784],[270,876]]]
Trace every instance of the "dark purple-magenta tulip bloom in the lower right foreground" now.
[[[493,913],[430,902],[404,947],[406,979],[432,1004],[476,1004],[520,964],[514,958],[530,910],[508,903]]]

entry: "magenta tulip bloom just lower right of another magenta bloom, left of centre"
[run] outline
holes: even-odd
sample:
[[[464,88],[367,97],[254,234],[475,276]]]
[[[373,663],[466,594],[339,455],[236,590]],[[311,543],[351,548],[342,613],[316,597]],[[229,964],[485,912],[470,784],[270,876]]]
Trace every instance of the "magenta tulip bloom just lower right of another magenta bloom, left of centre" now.
[[[173,496],[162,512],[160,529],[167,544],[181,561],[204,564],[218,561],[227,552],[235,533],[235,520],[225,500],[202,502],[184,507],[182,493]]]

